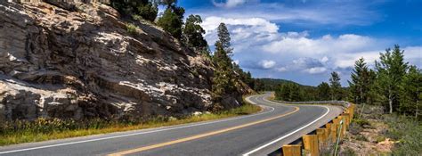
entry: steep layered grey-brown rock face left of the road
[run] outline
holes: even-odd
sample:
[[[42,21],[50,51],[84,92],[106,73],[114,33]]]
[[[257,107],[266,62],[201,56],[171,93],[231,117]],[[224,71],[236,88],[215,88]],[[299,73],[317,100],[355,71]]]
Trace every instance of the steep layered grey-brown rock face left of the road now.
[[[128,31],[105,4],[0,2],[0,121],[209,110],[212,63],[153,24],[135,25]]]

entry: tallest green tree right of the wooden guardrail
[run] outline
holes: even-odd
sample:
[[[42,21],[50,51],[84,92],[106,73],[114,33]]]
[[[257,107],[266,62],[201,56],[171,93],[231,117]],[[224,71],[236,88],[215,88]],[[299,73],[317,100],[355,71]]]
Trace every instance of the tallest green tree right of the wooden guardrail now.
[[[393,113],[399,105],[398,92],[408,69],[408,62],[404,62],[403,53],[399,45],[394,45],[393,50],[388,48],[385,53],[380,53],[380,61],[375,62],[378,73],[377,86],[380,94],[388,99],[390,113]]]

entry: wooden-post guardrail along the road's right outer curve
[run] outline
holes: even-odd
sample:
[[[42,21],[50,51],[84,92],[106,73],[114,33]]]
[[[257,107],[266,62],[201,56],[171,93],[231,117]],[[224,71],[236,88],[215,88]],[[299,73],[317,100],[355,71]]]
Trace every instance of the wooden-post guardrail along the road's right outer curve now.
[[[333,104],[332,101],[330,101]],[[353,103],[347,103],[339,101],[342,106],[345,106],[345,110],[335,119],[329,121],[323,127],[317,128],[314,134],[303,135],[301,138],[301,144],[287,144],[281,147],[282,154],[284,156],[319,156],[323,148],[328,147],[330,144],[335,144],[335,152],[337,154],[337,144],[339,140],[345,137],[345,131],[349,128],[349,124],[353,119],[353,112],[355,105]],[[283,102],[284,103],[284,102]],[[315,104],[315,102],[309,102],[306,104]],[[322,104],[325,102],[318,102]],[[298,104],[296,102],[292,104]],[[325,103],[327,104],[327,103]]]

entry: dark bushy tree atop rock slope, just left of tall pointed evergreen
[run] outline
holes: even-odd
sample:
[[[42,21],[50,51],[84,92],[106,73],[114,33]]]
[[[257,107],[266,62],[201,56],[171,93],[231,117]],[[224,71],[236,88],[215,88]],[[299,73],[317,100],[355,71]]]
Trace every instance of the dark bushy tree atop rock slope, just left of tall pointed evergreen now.
[[[183,29],[183,35],[185,36],[187,45],[195,50],[205,50],[208,48],[207,41],[202,36],[205,34],[205,30],[199,25],[200,23],[202,23],[200,16],[191,14],[186,19]]]

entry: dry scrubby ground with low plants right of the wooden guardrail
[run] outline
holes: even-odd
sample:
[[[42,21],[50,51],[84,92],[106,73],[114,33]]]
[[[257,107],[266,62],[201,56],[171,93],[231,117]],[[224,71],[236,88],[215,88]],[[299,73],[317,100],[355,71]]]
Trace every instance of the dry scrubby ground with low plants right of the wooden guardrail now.
[[[385,113],[382,106],[357,105],[341,154],[420,155],[422,123],[412,116]],[[360,115],[361,114],[361,115]],[[361,118],[359,118],[361,116]]]

